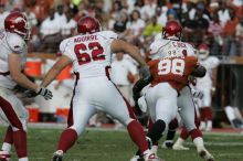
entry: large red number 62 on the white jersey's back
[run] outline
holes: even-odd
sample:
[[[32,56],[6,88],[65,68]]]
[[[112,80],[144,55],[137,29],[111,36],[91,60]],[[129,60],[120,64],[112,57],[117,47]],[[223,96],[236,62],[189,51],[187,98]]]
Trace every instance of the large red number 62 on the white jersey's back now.
[[[91,55],[86,53],[87,49],[92,51]],[[101,61],[105,60],[104,49],[98,42],[91,42],[88,45],[85,44],[76,44],[74,46],[74,52],[77,57],[77,62],[80,65],[87,64],[92,61]]]

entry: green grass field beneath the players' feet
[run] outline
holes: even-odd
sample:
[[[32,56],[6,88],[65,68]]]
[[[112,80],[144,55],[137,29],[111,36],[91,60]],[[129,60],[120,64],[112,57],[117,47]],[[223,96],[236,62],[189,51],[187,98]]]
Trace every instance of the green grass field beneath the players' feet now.
[[[1,140],[6,128],[0,128]],[[50,161],[62,130],[29,129],[28,146],[30,161]],[[190,140],[190,139],[189,139]],[[243,161],[243,136],[205,133],[207,148],[216,161]],[[201,161],[191,141],[189,151],[159,149],[159,157],[166,161]],[[88,129],[77,143],[65,154],[64,161],[129,161],[137,148],[126,131]],[[12,161],[17,161],[12,151]]]

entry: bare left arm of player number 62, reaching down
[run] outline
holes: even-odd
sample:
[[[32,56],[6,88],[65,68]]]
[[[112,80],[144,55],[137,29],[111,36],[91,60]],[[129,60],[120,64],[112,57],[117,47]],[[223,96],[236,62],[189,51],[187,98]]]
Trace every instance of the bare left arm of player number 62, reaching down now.
[[[62,57],[52,66],[52,68],[45,75],[41,87],[46,87],[50,83],[52,83],[55,77],[62,72],[62,69],[71,63],[72,60],[70,57],[62,55]]]

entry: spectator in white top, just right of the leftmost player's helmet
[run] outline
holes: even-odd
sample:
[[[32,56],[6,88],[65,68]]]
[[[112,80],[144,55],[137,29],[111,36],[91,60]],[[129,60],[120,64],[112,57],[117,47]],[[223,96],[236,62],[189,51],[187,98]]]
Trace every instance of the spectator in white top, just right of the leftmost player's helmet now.
[[[42,22],[41,33],[41,46],[40,52],[55,53],[57,51],[60,39],[60,30],[64,23],[61,23],[59,19],[54,17],[55,10],[49,11],[49,17]]]

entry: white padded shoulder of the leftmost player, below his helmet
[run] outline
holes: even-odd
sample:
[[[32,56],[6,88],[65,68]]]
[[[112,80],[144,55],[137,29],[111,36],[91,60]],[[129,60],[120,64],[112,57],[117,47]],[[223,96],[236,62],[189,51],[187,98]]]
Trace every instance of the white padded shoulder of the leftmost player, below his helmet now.
[[[14,33],[8,33],[6,37],[9,49],[13,52],[21,53],[27,50],[25,41]]]

